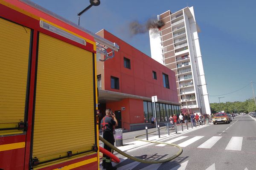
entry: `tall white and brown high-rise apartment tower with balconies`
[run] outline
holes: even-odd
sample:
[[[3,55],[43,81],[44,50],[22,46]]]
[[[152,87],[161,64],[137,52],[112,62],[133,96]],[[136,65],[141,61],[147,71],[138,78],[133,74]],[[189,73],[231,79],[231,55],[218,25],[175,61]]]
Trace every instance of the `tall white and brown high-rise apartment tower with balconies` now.
[[[179,102],[193,113],[210,114],[207,84],[193,7],[157,16],[165,23],[150,30],[151,57],[175,71]]]

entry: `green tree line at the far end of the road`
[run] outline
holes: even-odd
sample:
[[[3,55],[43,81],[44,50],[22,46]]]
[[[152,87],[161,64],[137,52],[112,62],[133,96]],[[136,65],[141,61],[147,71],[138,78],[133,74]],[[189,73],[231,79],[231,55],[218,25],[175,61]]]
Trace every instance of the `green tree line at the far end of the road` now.
[[[218,113],[220,111],[224,111],[225,113],[248,113],[256,111],[253,99],[247,99],[244,102],[210,103],[210,107],[212,113]]]

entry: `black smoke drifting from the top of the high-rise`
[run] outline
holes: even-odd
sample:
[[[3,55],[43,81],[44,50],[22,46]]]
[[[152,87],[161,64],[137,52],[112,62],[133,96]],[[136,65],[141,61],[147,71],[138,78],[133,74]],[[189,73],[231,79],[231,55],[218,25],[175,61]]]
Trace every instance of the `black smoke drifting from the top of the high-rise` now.
[[[163,21],[149,19],[145,23],[140,23],[139,21],[132,21],[129,24],[129,29],[130,29],[131,35],[137,35],[137,34],[144,34],[148,32],[148,30],[150,29],[157,30],[156,28],[159,29],[164,25],[165,23],[163,23]]]

